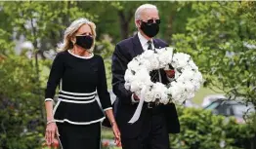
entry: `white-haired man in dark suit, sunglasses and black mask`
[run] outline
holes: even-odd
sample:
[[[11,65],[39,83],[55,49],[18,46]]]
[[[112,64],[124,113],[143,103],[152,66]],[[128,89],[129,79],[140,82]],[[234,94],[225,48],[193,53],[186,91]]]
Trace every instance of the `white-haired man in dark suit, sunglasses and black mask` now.
[[[140,6],[135,13],[135,24],[138,33],[119,42],[112,56],[112,87],[115,93],[116,121],[121,131],[123,149],[169,149],[168,133],[180,132],[180,124],[176,107],[173,103],[167,105],[145,102],[139,120],[129,124],[135,113],[140,98],[124,88],[124,74],[127,64],[133,57],[154,48],[164,48],[168,45],[153,38],[159,31],[160,19],[154,5]],[[170,71],[153,70],[150,72],[152,82],[169,83],[173,77]]]

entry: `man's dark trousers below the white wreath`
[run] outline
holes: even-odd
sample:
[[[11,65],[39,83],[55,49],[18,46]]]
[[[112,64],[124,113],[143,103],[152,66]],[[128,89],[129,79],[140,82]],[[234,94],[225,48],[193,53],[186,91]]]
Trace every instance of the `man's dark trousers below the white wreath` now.
[[[157,108],[147,108],[145,112],[140,135],[135,138],[122,137],[122,148],[169,149],[169,135],[163,113]]]

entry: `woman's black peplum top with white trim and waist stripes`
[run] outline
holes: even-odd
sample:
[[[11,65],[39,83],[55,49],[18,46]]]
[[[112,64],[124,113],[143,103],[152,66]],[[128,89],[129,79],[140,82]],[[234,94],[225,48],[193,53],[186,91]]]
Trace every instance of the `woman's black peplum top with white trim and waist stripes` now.
[[[75,56],[69,51],[59,53],[53,62],[45,91],[45,100],[52,100],[59,86],[58,102],[54,108],[56,122],[90,125],[105,119],[104,110],[111,109],[107,79],[102,56]]]

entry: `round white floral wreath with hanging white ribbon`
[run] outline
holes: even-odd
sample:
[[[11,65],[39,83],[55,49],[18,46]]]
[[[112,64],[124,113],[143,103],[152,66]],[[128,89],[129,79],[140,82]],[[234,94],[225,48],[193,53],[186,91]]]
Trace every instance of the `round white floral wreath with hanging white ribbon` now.
[[[170,84],[165,86],[160,82],[151,82],[150,71],[161,68],[168,70],[170,65],[175,71],[175,76]],[[139,119],[144,101],[182,104],[185,100],[192,99],[194,93],[200,88],[202,75],[190,55],[184,53],[173,55],[173,48],[168,47],[146,51],[142,55],[134,57],[128,63],[124,80],[125,89],[140,97],[136,113],[129,122],[134,123]]]

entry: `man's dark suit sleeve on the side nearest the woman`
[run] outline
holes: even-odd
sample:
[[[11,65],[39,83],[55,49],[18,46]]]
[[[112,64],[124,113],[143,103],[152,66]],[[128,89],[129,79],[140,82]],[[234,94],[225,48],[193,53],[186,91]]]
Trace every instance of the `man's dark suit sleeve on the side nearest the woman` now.
[[[128,54],[125,55],[124,49],[120,45],[115,46],[115,50],[112,55],[112,90],[116,96],[118,96],[121,102],[132,104],[130,91],[124,88],[124,74],[129,62]]]

